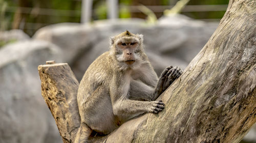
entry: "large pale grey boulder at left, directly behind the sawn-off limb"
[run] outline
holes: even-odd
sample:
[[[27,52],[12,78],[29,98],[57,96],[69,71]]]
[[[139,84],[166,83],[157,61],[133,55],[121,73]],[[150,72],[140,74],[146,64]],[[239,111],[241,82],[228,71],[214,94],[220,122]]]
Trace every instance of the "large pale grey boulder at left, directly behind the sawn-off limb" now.
[[[59,48],[25,41],[0,49],[0,142],[60,143],[51,112],[41,97],[37,66],[61,62]]]

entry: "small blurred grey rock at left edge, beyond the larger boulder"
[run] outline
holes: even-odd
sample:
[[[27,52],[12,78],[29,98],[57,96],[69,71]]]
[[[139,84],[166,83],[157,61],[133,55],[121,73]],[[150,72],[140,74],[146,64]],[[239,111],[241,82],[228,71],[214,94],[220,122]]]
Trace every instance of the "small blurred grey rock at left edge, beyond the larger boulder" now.
[[[29,40],[30,37],[22,30],[0,31],[0,47],[17,41]]]

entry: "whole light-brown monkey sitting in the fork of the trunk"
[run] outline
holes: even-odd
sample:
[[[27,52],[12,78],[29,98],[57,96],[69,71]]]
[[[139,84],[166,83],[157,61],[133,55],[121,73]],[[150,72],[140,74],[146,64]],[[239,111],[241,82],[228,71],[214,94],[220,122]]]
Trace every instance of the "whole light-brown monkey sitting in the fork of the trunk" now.
[[[162,111],[164,103],[155,100],[181,74],[181,68],[168,66],[158,78],[143,35],[125,31],[111,37],[110,50],[89,66],[79,84],[81,123],[74,142],[88,142],[92,131],[109,134],[145,112]]]

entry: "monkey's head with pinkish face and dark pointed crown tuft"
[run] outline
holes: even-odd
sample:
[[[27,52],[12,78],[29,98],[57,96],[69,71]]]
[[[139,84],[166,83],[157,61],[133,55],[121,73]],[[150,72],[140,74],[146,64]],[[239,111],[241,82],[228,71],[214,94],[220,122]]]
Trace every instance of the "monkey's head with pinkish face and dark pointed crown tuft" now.
[[[123,67],[137,67],[142,62],[144,54],[143,35],[125,31],[110,38],[111,54]]]

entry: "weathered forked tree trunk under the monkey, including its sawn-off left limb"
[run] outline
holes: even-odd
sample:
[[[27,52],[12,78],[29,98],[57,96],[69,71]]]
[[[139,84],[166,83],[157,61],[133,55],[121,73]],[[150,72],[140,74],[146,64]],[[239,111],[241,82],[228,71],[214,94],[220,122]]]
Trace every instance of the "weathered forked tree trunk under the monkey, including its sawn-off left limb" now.
[[[230,0],[216,32],[159,97],[163,111],[132,119],[91,142],[239,142],[256,122],[255,7],[254,0]],[[72,142],[80,121],[78,82],[67,64],[38,70],[63,141]]]

